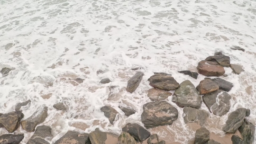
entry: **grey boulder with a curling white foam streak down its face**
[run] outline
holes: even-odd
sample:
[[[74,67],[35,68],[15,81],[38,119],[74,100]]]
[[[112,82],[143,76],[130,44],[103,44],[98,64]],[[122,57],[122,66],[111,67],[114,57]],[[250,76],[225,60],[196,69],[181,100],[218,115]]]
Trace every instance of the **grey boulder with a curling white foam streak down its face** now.
[[[223,116],[231,107],[231,96],[223,90],[210,92],[202,97],[206,107],[216,116]]]

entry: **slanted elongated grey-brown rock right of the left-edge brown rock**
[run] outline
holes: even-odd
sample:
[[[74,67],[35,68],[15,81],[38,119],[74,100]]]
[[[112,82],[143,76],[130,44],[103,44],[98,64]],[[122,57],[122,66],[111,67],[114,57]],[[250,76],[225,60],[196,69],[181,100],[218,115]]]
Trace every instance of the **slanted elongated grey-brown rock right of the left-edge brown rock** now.
[[[35,131],[36,126],[45,121],[47,117],[47,111],[47,107],[41,108],[40,110],[37,110],[35,113],[33,113],[32,116],[28,117],[25,120],[22,120],[20,122],[22,128],[27,132]]]

